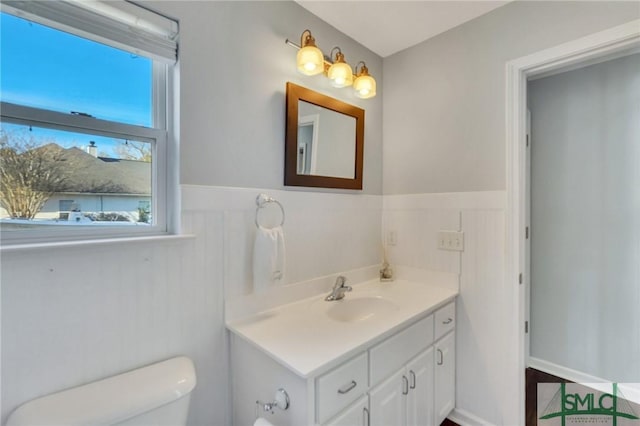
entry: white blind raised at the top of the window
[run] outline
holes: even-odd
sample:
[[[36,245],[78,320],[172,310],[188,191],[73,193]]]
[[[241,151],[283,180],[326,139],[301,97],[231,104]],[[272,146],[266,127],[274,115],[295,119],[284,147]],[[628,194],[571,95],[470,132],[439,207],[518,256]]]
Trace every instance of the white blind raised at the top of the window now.
[[[137,55],[177,61],[178,22],[129,1],[3,0],[2,10]]]

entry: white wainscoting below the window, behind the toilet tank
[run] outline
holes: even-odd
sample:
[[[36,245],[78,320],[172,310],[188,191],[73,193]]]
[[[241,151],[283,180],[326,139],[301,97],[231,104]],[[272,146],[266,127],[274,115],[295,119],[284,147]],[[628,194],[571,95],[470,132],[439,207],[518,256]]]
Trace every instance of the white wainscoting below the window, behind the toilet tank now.
[[[190,424],[228,424],[221,246],[203,234],[220,220],[185,223],[197,238],[3,253],[2,423],[36,397],[187,355]]]

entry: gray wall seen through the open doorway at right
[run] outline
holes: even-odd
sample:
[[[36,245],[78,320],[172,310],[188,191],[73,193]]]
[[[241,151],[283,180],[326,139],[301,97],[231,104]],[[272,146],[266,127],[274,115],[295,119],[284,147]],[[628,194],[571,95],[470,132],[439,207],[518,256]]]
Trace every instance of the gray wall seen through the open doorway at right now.
[[[533,81],[529,100],[531,355],[640,382],[640,54]]]

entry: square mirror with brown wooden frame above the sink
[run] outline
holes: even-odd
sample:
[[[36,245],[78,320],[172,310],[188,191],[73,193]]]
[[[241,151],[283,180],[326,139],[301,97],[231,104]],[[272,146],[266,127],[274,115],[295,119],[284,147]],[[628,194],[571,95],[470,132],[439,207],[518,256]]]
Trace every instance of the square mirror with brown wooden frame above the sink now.
[[[362,189],[364,110],[287,83],[284,184]]]

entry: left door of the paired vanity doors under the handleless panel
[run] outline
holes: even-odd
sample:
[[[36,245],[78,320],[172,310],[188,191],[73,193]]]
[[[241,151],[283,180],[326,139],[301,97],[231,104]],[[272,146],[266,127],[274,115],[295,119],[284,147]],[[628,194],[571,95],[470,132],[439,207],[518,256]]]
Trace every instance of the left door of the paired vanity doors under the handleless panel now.
[[[371,426],[402,426],[405,424],[405,392],[409,387],[405,369],[369,391]]]

